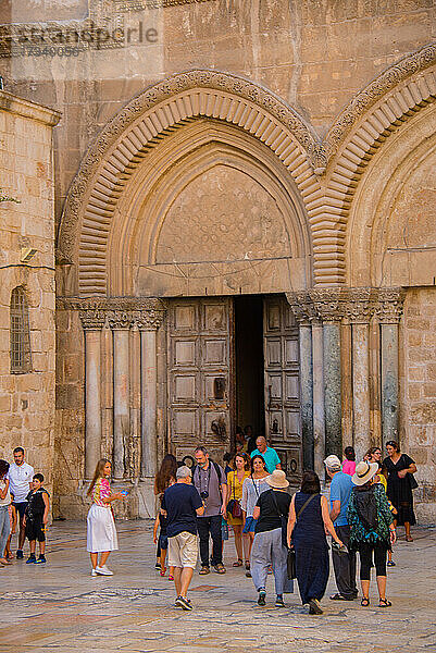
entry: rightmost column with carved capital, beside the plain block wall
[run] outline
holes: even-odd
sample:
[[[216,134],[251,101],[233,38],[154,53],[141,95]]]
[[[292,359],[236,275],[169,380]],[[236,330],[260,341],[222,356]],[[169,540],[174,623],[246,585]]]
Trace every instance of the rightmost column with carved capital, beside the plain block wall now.
[[[398,330],[403,300],[404,291],[402,288],[379,289],[377,315],[381,323],[382,436],[384,446],[389,440],[398,441]]]

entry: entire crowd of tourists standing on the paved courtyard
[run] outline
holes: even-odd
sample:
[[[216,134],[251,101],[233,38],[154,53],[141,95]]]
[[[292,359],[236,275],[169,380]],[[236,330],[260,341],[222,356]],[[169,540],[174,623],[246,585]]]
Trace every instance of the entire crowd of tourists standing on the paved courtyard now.
[[[258,604],[266,604],[266,581],[273,574],[275,605],[285,605],[284,594],[294,591],[297,580],[301,601],[310,614],[322,614],[329,576],[329,545],[337,591],[333,601],[353,601],[358,596],[357,560],[360,557],[361,605],[370,605],[371,567],[375,566],[378,606],[389,607],[386,596],[386,566],[394,566],[391,546],[396,526],[403,525],[406,540],[412,541],[410,527],[415,523],[412,489],[416,466],[401,454],[398,443],[387,443],[388,456],[382,463],[382,449],[370,448],[356,463],[352,447],[345,459],[329,455],[324,460],[331,479],[329,504],[321,493],[314,471],[304,471],[300,490],[291,496],[281,460],[264,438],[256,440],[251,454],[239,447],[227,473],[209,457],[205,447],[194,452],[191,468],[164,457],[155,477],[154,492],[159,508],[153,539],[155,566],[161,576],[173,580],[176,605],[192,609],[187,596],[200,554],[199,574],[225,574],[224,542],[228,527],[234,531],[236,559],[258,592]],[[10,534],[20,525],[16,558],[23,558],[24,540],[29,540],[27,563],[45,563],[45,531],[49,515],[49,494],[43,477],[34,473],[16,447],[14,461],[0,460],[0,565],[11,564]],[[88,496],[92,501],[87,517],[87,549],[91,576],[112,576],[107,562],[117,549],[112,503],[123,501],[127,492],[112,492],[111,463],[99,460]],[[39,557],[36,557],[36,541]],[[210,541],[212,551],[210,552]],[[289,553],[290,552],[290,553]],[[389,555],[388,560],[387,555]],[[289,575],[289,559],[295,559]]]

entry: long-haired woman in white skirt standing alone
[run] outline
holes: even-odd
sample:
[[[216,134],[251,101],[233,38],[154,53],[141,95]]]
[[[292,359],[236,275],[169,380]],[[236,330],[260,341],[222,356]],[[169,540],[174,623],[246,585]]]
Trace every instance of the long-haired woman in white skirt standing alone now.
[[[109,478],[112,466],[108,458],[101,458],[96,466],[87,496],[92,497],[92,505],[87,517],[87,551],[91,558],[91,576],[113,576],[107,566],[111,551],[117,551],[119,540],[111,504],[124,500],[122,492],[111,492]],[[100,554],[100,562],[98,559]]]

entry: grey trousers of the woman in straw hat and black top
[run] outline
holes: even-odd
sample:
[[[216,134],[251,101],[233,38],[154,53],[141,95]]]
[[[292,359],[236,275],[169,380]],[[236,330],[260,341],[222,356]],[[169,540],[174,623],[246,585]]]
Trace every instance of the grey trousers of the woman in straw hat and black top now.
[[[294,592],[287,574],[288,552],[282,544],[282,529],[256,533],[251,549],[250,570],[257,590],[266,587],[267,570],[273,566],[275,593]]]

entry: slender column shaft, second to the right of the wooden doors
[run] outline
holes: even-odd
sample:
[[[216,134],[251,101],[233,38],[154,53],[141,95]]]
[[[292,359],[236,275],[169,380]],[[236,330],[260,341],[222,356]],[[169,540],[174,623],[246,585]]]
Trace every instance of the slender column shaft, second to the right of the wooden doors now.
[[[313,468],[324,480],[325,458],[325,412],[324,412],[324,355],[323,326],[312,321],[312,361],[313,361]]]

